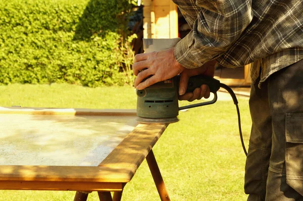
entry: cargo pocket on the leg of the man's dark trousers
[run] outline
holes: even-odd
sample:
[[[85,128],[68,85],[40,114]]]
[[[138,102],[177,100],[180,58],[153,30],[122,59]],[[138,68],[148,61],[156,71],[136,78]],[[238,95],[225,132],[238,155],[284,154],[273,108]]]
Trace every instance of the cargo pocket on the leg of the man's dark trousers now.
[[[303,195],[303,113],[285,116],[286,183]]]

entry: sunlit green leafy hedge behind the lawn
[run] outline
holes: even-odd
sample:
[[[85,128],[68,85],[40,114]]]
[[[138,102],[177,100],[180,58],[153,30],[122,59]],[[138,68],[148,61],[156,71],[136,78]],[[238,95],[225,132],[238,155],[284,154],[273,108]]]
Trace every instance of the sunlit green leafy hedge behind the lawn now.
[[[132,82],[129,0],[0,0],[0,83]]]

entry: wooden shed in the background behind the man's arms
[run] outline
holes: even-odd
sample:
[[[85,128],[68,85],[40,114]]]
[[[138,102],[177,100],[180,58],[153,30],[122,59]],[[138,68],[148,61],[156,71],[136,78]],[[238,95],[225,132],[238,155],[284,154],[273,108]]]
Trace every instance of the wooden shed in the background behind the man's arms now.
[[[143,38],[183,38],[189,27],[172,0],[143,0]],[[229,86],[250,86],[250,64],[218,68],[215,77]]]

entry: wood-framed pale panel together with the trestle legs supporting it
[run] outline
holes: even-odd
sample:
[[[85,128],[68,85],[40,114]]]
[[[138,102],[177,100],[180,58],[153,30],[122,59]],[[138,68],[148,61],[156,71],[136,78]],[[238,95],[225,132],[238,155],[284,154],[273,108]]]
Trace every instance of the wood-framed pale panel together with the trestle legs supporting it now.
[[[135,117],[134,110],[0,107],[0,189],[74,190],[74,200],[98,191],[100,200],[121,200],[146,158],[161,200],[170,200],[151,150],[168,124]]]

